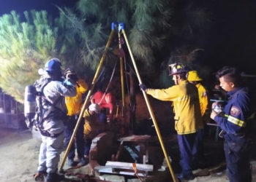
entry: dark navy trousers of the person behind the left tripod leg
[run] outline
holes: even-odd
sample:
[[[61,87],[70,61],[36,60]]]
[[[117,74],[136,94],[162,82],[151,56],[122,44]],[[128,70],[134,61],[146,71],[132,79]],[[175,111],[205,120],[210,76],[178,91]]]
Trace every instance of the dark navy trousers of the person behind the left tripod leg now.
[[[71,116],[67,124],[65,125],[65,148],[66,149],[71,139],[71,136],[73,134],[73,131],[75,129],[75,125],[77,121],[78,121],[78,118],[76,118],[76,116]],[[75,135],[78,157],[80,158],[83,158],[83,152],[84,152],[83,125],[84,125],[84,119],[82,118],[78,127],[78,131]],[[75,158],[75,142],[72,143],[72,146],[69,150],[69,154],[67,154],[67,157],[69,159]]]

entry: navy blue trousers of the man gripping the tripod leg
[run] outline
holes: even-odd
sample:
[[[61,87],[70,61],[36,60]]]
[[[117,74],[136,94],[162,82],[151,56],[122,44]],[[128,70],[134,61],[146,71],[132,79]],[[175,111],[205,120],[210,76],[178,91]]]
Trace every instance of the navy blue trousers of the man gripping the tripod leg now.
[[[191,167],[196,136],[197,132],[187,135],[178,135],[178,146],[181,151],[181,168],[183,175],[193,175]]]

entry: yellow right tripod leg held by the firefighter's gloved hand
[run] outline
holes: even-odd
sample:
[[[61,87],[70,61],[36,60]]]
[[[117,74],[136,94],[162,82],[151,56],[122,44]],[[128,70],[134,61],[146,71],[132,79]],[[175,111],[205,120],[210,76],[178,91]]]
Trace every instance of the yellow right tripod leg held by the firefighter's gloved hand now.
[[[124,31],[124,23],[119,23],[119,31],[121,31],[121,32],[124,34],[124,39],[125,39],[125,41],[127,42],[127,47],[128,47],[128,50],[129,50],[129,55],[131,56],[131,59],[132,59],[132,64],[133,64],[133,66],[134,66],[134,68],[135,68],[135,72],[136,72],[136,74],[137,74],[137,76],[138,76],[139,83],[142,84],[142,81],[141,81],[141,79],[140,79],[140,74],[139,74],[139,72],[138,72],[138,68],[137,68],[136,63],[135,63],[135,59],[133,58],[133,55],[132,55],[132,50],[131,50],[131,48],[129,47],[129,42],[128,42],[128,39],[127,39],[127,34],[126,34],[125,31]],[[165,159],[166,159],[167,165],[168,165],[168,167],[169,167],[170,174],[172,175],[173,181],[174,181],[174,182],[178,182],[178,179],[176,178],[176,175],[174,175],[174,173],[173,173],[173,168],[172,168],[171,165],[170,165],[170,160],[169,160],[169,157],[168,157],[167,152],[166,152],[166,150],[165,150],[165,144],[164,144],[164,142],[162,141],[162,136],[161,136],[161,133],[160,133],[160,131],[159,131],[159,127],[158,127],[158,125],[157,125],[157,121],[156,121],[156,118],[155,118],[155,116],[154,116],[154,112],[152,111],[151,104],[149,103],[148,95],[146,95],[146,92],[144,92],[144,91],[143,91],[143,96],[144,96],[144,98],[145,98],[145,100],[146,100],[146,104],[147,104],[147,106],[148,106],[149,114],[150,114],[150,116],[151,116],[151,118],[152,118],[152,120],[153,120],[153,122],[154,122],[154,127],[156,128],[157,136],[158,136],[159,142],[160,142],[160,144],[161,144],[161,146],[162,146],[162,151],[163,151],[164,154],[165,154]]]

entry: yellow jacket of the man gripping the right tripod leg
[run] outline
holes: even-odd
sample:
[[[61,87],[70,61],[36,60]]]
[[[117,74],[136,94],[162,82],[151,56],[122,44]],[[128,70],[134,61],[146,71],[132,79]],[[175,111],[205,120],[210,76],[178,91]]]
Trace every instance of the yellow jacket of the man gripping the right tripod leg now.
[[[194,84],[185,80],[167,89],[148,89],[147,94],[159,100],[173,101],[178,135],[194,133],[203,128],[198,90]]]

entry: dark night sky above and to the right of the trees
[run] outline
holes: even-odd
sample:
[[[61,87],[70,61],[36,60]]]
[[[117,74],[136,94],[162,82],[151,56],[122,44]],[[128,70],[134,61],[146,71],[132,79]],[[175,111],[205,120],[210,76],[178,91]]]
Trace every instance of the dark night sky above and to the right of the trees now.
[[[0,15],[12,10],[22,13],[46,9],[56,17],[59,12],[55,5],[72,7],[77,1],[0,0]],[[195,0],[195,3],[208,9],[212,22],[205,43],[197,45],[205,50],[198,60],[214,69],[239,66],[246,74],[256,74],[256,1]]]

